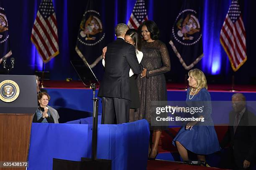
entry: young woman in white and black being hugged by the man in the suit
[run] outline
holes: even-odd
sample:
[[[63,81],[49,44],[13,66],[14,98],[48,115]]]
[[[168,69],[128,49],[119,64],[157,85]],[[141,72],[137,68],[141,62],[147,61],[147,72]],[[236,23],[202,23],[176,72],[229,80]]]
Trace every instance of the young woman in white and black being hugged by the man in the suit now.
[[[129,29],[125,33],[125,41],[130,43],[131,45],[134,45],[135,51],[136,51],[136,57],[138,59],[138,62],[140,63],[143,57],[143,53],[141,52],[141,36],[138,34],[137,30]],[[106,51],[107,51],[107,47],[104,47],[102,52],[105,54]],[[105,65],[104,58],[102,60],[102,64]],[[130,106],[129,122],[133,122],[134,111],[140,107],[141,102],[138,94],[138,87],[135,82],[135,77],[137,77],[137,75],[134,75],[133,70],[130,69],[129,76],[130,76],[129,80],[130,80],[130,91],[131,91],[131,106]]]

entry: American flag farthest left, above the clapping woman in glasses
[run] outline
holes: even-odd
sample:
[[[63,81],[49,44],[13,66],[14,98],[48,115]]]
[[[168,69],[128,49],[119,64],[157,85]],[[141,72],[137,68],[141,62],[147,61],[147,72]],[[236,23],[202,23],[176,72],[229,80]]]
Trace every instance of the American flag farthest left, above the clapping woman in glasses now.
[[[42,0],[36,14],[31,41],[46,63],[59,54],[56,15],[52,0]]]

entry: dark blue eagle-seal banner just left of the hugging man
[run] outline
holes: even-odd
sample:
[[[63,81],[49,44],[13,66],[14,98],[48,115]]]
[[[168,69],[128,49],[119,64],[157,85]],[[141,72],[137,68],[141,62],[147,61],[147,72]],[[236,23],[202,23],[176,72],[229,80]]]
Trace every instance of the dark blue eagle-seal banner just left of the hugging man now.
[[[94,67],[102,60],[105,33],[100,19],[98,0],[89,0],[80,23],[75,50],[84,62]]]

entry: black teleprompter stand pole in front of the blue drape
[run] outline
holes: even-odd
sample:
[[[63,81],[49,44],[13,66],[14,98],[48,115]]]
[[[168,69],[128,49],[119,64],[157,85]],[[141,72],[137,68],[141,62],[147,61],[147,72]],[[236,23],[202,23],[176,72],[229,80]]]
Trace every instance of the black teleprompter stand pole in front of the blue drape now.
[[[98,134],[98,105],[99,99],[95,98],[96,85],[91,84],[93,90],[93,122],[92,122],[92,160],[97,159],[97,134]]]

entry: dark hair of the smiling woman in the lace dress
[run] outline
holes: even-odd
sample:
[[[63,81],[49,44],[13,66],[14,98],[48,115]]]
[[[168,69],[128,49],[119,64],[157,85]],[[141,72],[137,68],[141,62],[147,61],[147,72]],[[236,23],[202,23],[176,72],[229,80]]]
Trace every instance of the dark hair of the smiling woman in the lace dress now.
[[[157,27],[156,23],[152,20],[146,20],[138,28],[138,33],[141,35],[141,28],[143,25],[146,25],[147,30],[150,32],[150,37],[152,40],[158,40],[160,36],[159,28]],[[142,37],[142,35],[141,35]]]

